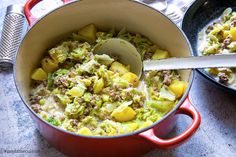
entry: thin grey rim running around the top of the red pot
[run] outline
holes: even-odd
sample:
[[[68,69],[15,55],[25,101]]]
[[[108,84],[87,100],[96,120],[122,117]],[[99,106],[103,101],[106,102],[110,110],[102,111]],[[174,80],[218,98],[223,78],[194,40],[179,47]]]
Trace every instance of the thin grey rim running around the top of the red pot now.
[[[192,46],[187,38],[187,36],[185,35],[185,33],[183,32],[183,30],[181,30],[181,28],[179,26],[177,26],[172,20],[170,20],[166,15],[164,15],[162,12],[152,8],[151,6],[145,4],[145,3],[141,3],[141,2],[137,2],[137,1],[132,1],[132,0],[129,0],[133,3],[137,3],[139,5],[143,5],[145,7],[148,7],[149,9],[152,9],[153,11],[156,11],[157,13],[161,14],[162,16],[164,16],[165,18],[167,18],[173,25],[175,25],[175,27],[181,32],[181,35],[184,37],[184,39],[186,40],[188,46],[189,46],[189,51],[190,51],[190,55],[193,56],[193,50],[192,50]],[[49,16],[50,14],[53,14],[54,11],[56,10],[60,10],[62,9],[63,7],[66,7],[68,5],[73,5],[74,3],[79,3],[80,1],[72,1],[72,2],[69,2],[67,4],[64,4],[62,6],[59,6],[55,9],[52,9],[51,11],[49,11],[47,14],[43,15],[42,17],[40,17],[28,30],[27,32],[25,33],[23,39],[21,40],[21,43],[20,43],[20,46],[18,47],[17,49],[17,54],[15,55],[15,60],[14,60],[14,66],[13,66],[13,78],[14,78],[14,83],[15,83],[15,86],[16,86],[16,89],[17,89],[17,92],[21,98],[21,100],[23,101],[24,105],[28,108],[28,110],[34,115],[34,117],[36,117],[38,120],[40,120],[41,122],[45,123],[46,125],[56,129],[57,131],[60,131],[60,132],[63,132],[63,133],[66,133],[66,134],[69,134],[69,135],[72,135],[72,136],[77,136],[77,137],[82,137],[82,138],[90,138],[90,139],[111,139],[111,138],[125,138],[125,137],[128,137],[128,136],[133,136],[133,135],[137,135],[137,134],[140,134],[142,132],[145,132],[155,126],[157,126],[159,123],[161,123],[164,119],[166,119],[168,116],[170,116],[171,114],[173,114],[178,108],[180,105],[183,104],[184,100],[186,99],[186,97],[188,96],[188,93],[190,91],[190,88],[192,86],[192,83],[193,83],[193,78],[194,78],[194,75],[195,75],[195,70],[191,70],[191,74],[190,74],[190,77],[189,77],[189,85],[188,85],[188,89],[185,91],[184,95],[182,96],[182,98],[179,100],[179,102],[177,103],[177,105],[170,111],[168,112],[165,116],[161,117],[161,119],[159,119],[158,121],[154,122],[152,125],[148,126],[148,127],[145,127],[145,128],[142,128],[142,129],[139,129],[139,130],[136,130],[134,132],[130,132],[130,133],[126,133],[126,134],[121,134],[121,135],[115,135],[115,136],[87,136],[87,135],[80,135],[80,134],[77,134],[77,133],[74,133],[74,132],[70,132],[70,131],[67,131],[67,130],[64,130],[62,128],[59,128],[57,126],[54,126],[52,124],[50,124],[49,122],[47,122],[46,120],[44,120],[43,118],[41,118],[37,113],[35,113],[32,108],[30,107],[30,105],[24,100],[21,92],[20,92],[20,88],[19,88],[19,84],[17,83],[16,81],[16,60],[17,60],[17,57],[18,57],[18,52],[19,52],[19,49],[22,45],[22,43],[24,42],[25,40],[25,37],[27,36],[28,32],[30,32],[34,27],[35,25],[37,25],[37,23],[39,21],[41,21],[43,18],[45,18],[46,16]],[[38,129],[38,128],[37,128]]]

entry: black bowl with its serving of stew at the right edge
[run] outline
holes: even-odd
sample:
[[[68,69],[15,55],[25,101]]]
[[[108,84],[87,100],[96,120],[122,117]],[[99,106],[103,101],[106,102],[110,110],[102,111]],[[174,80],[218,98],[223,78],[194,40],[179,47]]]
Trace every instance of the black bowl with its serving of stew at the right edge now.
[[[182,29],[195,56],[235,54],[235,1],[199,0],[186,11]],[[236,71],[232,68],[197,69],[219,87],[236,92]]]

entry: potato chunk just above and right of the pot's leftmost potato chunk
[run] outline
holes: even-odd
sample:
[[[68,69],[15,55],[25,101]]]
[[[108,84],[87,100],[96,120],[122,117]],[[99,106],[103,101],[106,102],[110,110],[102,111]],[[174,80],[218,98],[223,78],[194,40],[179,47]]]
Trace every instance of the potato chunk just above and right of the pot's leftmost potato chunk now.
[[[49,57],[45,57],[42,62],[42,68],[45,72],[50,73],[55,71],[58,68],[58,63],[56,63],[54,60],[52,60]]]

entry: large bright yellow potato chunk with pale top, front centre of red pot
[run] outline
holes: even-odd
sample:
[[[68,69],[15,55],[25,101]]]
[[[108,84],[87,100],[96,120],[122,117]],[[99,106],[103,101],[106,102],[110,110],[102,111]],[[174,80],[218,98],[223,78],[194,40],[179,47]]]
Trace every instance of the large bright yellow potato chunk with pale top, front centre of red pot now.
[[[136,112],[129,106],[119,106],[111,116],[118,122],[126,122],[135,118]]]

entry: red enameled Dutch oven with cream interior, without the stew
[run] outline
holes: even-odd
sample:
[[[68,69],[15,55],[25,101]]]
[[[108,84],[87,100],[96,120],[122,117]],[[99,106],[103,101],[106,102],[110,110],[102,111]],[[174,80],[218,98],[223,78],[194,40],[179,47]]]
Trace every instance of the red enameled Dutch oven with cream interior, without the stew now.
[[[189,82],[189,87],[176,107],[152,126],[133,133],[112,137],[82,136],[52,126],[40,118],[29,105],[31,71],[40,64],[48,48],[89,23],[94,23],[104,30],[113,26],[117,30],[126,27],[131,32],[147,36],[175,57],[190,56],[192,51],[186,36],[172,21],[162,13],[135,1],[73,1],[36,20],[30,13],[30,9],[39,1],[29,0],[25,5],[25,14],[30,28],[17,53],[14,76],[18,92],[39,132],[51,145],[69,156],[136,157],[154,148],[176,147],[194,134],[201,118],[188,98],[193,80],[191,70],[179,71],[182,79]],[[182,134],[165,139],[165,135],[173,129],[179,114],[191,117],[191,125]]]

